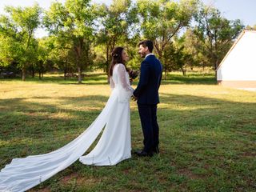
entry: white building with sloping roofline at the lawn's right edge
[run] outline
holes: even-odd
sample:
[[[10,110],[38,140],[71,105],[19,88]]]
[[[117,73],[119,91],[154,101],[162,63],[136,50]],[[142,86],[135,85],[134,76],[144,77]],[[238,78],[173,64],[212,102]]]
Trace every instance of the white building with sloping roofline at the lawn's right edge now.
[[[256,88],[256,31],[243,30],[217,69],[218,84]]]

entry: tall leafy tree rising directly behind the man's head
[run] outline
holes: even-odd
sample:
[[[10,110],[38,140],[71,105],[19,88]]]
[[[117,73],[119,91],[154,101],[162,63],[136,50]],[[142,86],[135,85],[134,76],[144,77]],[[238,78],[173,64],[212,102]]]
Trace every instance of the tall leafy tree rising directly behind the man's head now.
[[[142,21],[142,34],[144,38],[154,41],[154,47],[160,60],[174,35],[182,28],[189,26],[192,16],[197,10],[197,0],[181,0],[179,2],[167,0],[139,0],[138,13]],[[167,67],[162,61],[165,74]],[[166,76],[166,75],[165,75]]]

